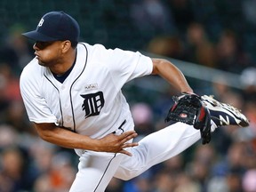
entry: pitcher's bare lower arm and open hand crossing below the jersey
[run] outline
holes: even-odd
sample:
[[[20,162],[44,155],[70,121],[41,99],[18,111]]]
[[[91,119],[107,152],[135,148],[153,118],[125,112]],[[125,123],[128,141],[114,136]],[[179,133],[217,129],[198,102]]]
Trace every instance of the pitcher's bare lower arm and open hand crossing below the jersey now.
[[[92,139],[89,136],[71,132],[55,124],[35,124],[38,135],[45,141],[63,148],[80,148],[84,150],[132,154],[124,148],[137,146],[137,142],[128,142],[137,137],[134,131],[124,132],[121,135],[108,134],[100,139]]]

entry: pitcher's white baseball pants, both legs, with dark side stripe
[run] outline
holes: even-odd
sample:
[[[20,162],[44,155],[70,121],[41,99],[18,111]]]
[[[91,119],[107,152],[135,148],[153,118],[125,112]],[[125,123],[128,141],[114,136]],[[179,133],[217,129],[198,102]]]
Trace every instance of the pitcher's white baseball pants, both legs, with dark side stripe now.
[[[104,192],[113,177],[131,180],[151,166],[180,154],[200,138],[200,131],[192,125],[176,123],[149,134],[140,140],[139,146],[127,149],[132,156],[84,152],[69,192]]]

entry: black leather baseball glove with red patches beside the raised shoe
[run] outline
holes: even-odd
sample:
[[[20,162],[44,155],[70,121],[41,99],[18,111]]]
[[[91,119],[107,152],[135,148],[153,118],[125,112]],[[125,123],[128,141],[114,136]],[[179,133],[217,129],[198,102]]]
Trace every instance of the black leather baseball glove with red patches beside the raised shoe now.
[[[174,121],[191,124],[200,130],[202,143],[211,140],[211,115],[209,109],[196,94],[183,93],[180,97],[173,97],[174,104],[170,108],[165,122]]]

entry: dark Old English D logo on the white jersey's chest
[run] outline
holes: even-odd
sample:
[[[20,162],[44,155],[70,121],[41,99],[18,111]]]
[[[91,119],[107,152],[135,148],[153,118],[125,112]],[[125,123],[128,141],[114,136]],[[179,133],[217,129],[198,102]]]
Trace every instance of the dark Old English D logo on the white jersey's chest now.
[[[81,95],[81,97],[84,98],[82,108],[85,111],[85,118],[89,116],[98,116],[105,103],[103,92],[84,94]]]

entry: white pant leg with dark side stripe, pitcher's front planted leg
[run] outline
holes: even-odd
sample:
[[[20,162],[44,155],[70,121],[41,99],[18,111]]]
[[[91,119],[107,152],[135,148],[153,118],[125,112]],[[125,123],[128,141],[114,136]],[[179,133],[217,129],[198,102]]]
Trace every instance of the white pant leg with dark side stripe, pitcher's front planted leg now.
[[[124,155],[85,152],[79,158],[78,172],[69,192],[103,192]]]

